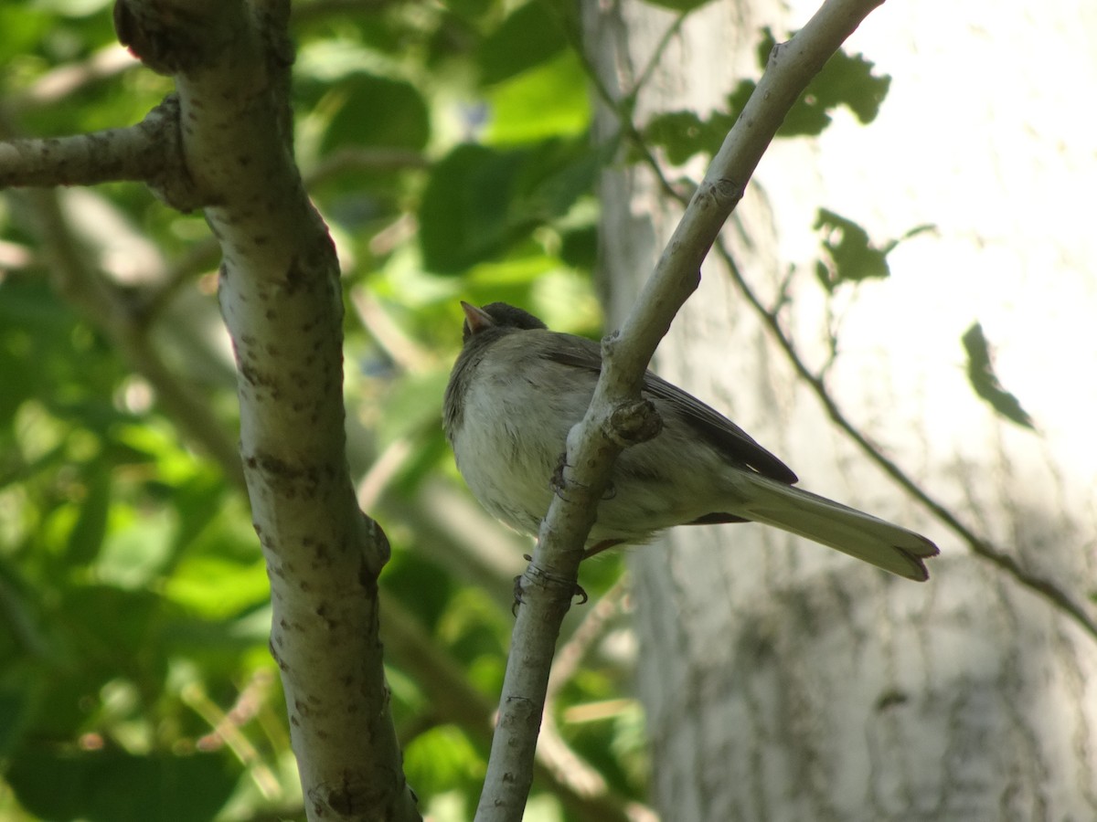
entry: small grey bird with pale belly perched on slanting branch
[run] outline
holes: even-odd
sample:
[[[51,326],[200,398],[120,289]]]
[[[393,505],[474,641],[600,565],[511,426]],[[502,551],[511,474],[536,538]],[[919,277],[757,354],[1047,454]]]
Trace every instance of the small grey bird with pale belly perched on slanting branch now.
[[[505,302],[461,305],[464,347],[445,389],[445,434],[480,504],[536,534],[567,433],[593,395],[601,350]],[[618,457],[588,552],[643,543],[672,525],[751,521],[911,580],[928,579],[923,560],[938,551],[925,537],[793,488],[796,475],[780,459],[651,372],[642,395],[658,410],[663,431]]]

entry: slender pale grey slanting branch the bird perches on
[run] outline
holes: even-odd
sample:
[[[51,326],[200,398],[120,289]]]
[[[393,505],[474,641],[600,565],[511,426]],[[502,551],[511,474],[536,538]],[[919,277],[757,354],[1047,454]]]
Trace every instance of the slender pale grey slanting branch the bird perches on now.
[[[827,0],[766,73],[713,159],[621,330],[602,341],[602,373],[583,422],[572,430],[562,488],[521,578],[522,606],[507,664],[499,721],[476,819],[520,820],[532,779],[536,729],[559,625],[575,592],[583,545],[613,461],[644,433],[640,383],[659,340],[700,282],[700,266],[811,78],[882,0]],[[640,426],[637,431],[636,427]]]

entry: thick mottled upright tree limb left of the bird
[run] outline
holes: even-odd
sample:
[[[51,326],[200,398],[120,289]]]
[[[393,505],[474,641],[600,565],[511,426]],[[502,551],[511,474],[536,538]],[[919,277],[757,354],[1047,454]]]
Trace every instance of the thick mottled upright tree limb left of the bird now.
[[[306,812],[417,820],[378,639],[388,543],[347,467],[338,261],[292,159],[287,12],[281,0],[120,0],[115,21],[174,76],[188,179],[222,246],[240,450]]]

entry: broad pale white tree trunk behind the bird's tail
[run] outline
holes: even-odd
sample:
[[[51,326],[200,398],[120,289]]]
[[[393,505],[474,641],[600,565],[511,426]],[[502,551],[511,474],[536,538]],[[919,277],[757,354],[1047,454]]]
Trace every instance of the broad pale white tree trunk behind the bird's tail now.
[[[971,5],[870,16],[847,50],[893,75],[879,122],[839,116],[821,140],[776,145],[728,239],[767,301],[800,266],[784,319],[815,368],[828,311],[840,313],[827,386],[853,424],[1093,619],[1097,437],[1083,412],[1097,406],[1097,233],[1081,215],[1097,160],[1077,118],[1097,85],[1084,48],[1097,25],[1065,0],[1039,19]],[[694,13],[644,84],[638,122],[720,105],[757,75],[758,25],[780,36],[810,12],[784,18],[759,0]],[[588,2],[586,23],[620,93],[672,18]],[[1052,61],[1088,91],[1050,82]],[[607,174],[602,203],[612,321],[678,209],[636,165]],[[891,279],[828,305],[810,267],[817,206],[880,242],[921,222],[939,230],[900,247]],[[975,320],[1039,434],[969,387],[960,336]],[[1097,636],[974,556],[837,431],[719,261],[655,367],[783,457],[804,488],[919,528],[943,552],[918,585],[756,525],[679,528],[635,550],[640,692],[664,819],[1097,819]]]

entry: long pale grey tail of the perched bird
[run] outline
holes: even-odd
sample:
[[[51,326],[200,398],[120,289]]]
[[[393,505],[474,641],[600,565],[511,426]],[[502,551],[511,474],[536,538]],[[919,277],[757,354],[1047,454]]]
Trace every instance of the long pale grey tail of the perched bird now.
[[[768,477],[739,478],[749,482],[748,489],[740,489],[747,502],[736,509],[746,518],[835,548],[908,580],[929,579],[923,560],[939,551],[920,534]]]

